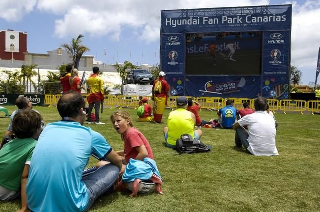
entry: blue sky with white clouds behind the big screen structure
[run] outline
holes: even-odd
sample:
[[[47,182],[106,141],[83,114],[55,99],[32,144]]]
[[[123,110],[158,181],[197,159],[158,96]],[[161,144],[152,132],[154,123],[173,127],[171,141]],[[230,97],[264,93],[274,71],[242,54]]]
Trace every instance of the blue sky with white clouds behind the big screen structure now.
[[[159,63],[161,10],[288,3],[291,64],[308,84],[320,47],[320,0],[0,0],[0,29],[26,31],[30,53],[47,53],[83,34],[85,54],[97,60],[152,65]]]

